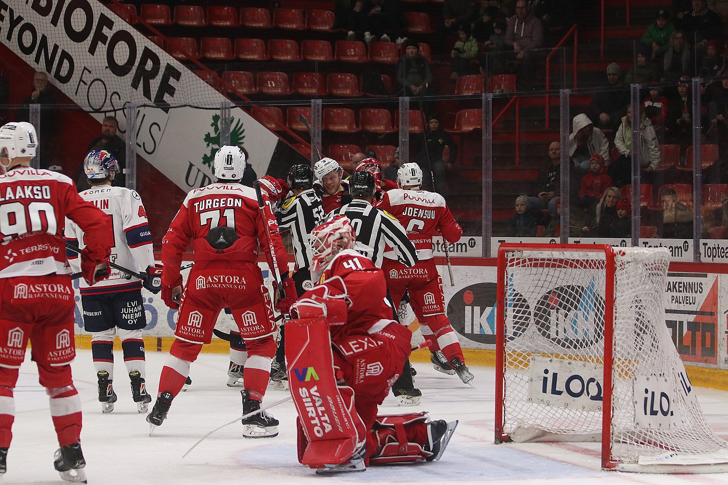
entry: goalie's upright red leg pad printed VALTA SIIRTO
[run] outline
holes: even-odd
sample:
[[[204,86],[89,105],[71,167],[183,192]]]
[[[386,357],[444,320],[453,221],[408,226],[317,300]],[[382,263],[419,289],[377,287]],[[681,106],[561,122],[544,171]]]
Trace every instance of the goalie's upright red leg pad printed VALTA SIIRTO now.
[[[303,435],[298,444],[305,446],[299,461],[311,468],[346,462],[366,432],[353,411],[354,391],[336,386],[328,322],[304,318],[285,326],[289,388]]]

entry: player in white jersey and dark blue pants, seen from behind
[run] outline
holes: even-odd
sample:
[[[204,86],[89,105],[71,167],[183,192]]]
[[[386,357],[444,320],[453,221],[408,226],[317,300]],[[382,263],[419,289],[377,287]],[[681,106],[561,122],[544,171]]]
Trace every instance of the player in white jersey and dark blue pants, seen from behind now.
[[[140,280],[113,269],[108,279],[93,287],[82,280],[81,303],[84,327],[92,334],[91,352],[98,378],[101,411],[114,411],[113,348],[114,338],[118,335],[122,341],[132,398],[138,412],[146,412],[151,396],[145,385],[142,329],[146,326],[146,314],[141,287],[157,294],[162,289],[162,267],[154,264],[151,232],[141,197],[129,188],[111,186],[118,171],[119,164],[114,155],[104,150],[91,151],[84,159],[84,172],[91,188],[80,195],[111,217],[114,232],[111,261],[147,278]],[[70,220],[66,222],[66,241],[72,246],[84,248],[84,233]],[[67,256],[74,270],[77,270],[78,254],[68,250]]]

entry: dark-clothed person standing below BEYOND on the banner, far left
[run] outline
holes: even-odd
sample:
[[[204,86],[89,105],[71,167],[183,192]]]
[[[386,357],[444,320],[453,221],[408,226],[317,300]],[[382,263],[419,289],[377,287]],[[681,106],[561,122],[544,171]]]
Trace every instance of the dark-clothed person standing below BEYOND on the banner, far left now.
[[[39,161],[39,167],[45,169],[51,164],[58,108],[56,107],[55,92],[48,84],[47,73],[43,71],[36,71],[33,75],[33,92],[17,108],[15,121],[31,121],[31,105],[41,105],[41,127],[38,132],[40,153],[36,154],[36,159]]]

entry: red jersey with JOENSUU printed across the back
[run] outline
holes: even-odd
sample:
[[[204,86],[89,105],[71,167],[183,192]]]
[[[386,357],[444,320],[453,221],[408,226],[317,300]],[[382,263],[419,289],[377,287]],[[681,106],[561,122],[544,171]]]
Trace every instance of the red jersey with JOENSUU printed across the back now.
[[[385,192],[376,207],[397,217],[417,249],[420,261],[432,257],[432,236],[439,236],[441,232],[443,238],[451,243],[462,236],[462,228],[439,193],[395,188]],[[385,252],[384,257],[397,259],[391,250]]]

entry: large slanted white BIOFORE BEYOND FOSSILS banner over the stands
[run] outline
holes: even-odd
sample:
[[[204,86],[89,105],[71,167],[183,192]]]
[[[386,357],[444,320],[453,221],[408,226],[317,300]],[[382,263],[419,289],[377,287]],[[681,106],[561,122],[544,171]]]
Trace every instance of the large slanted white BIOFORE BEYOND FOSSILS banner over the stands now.
[[[139,154],[183,191],[210,183],[211,157],[220,145],[219,116],[214,110],[172,107],[204,103],[218,108],[226,97],[101,2],[9,5],[0,0],[0,41],[34,69],[47,72],[74,103],[97,111],[96,119],[114,114],[120,135],[127,127],[124,105],[150,105],[137,114]],[[231,143],[244,145],[256,172],[266,173],[278,137],[240,108],[231,116]]]

